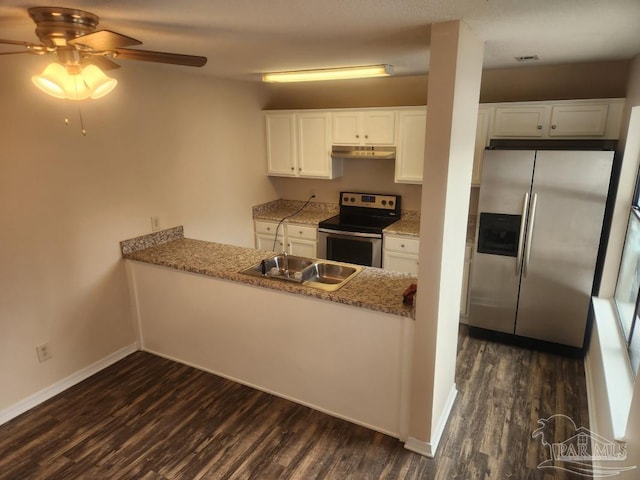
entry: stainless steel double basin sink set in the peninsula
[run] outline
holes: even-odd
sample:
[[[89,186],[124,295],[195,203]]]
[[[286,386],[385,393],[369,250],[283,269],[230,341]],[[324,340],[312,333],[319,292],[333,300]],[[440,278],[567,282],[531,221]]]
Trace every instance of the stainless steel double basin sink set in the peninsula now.
[[[317,260],[284,253],[274,255],[241,270],[254,277],[296,282],[307,287],[334,292],[362,271],[359,265]]]

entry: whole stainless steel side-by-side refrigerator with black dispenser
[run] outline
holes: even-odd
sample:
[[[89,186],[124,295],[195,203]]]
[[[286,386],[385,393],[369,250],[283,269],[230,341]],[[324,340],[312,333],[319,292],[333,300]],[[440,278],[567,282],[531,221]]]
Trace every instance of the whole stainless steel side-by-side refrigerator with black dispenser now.
[[[485,151],[470,325],[583,346],[613,154]]]

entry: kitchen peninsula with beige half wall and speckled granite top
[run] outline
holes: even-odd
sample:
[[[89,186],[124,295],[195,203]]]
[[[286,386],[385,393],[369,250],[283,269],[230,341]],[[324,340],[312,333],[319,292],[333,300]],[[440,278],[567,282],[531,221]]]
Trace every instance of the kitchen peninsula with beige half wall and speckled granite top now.
[[[415,277],[365,268],[325,292],[247,276],[269,252],[182,227],[121,248],[142,350],[406,438]]]

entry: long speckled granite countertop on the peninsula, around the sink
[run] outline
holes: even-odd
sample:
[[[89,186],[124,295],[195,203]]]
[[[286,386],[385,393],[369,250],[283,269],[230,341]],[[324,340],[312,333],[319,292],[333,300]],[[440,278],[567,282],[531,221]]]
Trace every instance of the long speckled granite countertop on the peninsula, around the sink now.
[[[415,318],[415,308],[402,303],[402,293],[416,283],[416,277],[409,274],[365,267],[339,290],[325,292],[294,282],[238,273],[273,253],[184,238],[182,227],[125,240],[120,245],[123,257],[129,260]]]

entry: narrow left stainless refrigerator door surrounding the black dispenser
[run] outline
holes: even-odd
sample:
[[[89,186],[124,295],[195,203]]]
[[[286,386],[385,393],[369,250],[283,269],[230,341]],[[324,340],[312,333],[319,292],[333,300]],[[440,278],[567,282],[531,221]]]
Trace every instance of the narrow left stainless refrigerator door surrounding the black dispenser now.
[[[521,221],[526,219],[526,200],[531,189],[534,158],[535,152],[526,150],[485,152],[478,200],[479,215],[519,215]],[[523,231],[523,226],[520,227],[518,233]],[[514,333],[520,285],[519,259],[521,255],[480,253],[476,244],[471,262],[467,320],[470,325]]]

